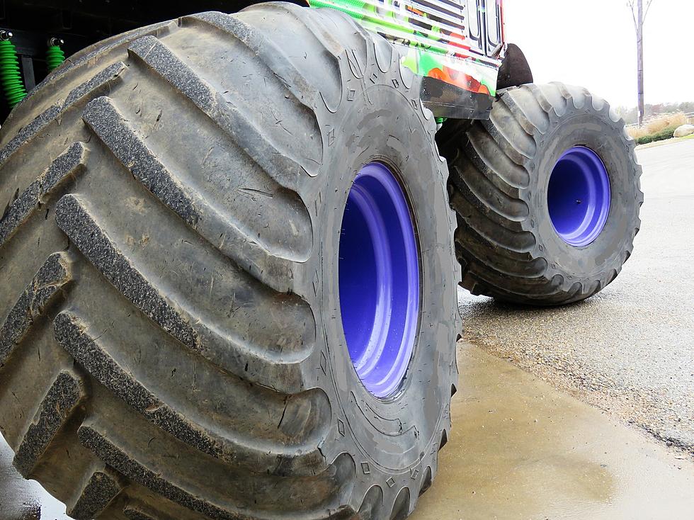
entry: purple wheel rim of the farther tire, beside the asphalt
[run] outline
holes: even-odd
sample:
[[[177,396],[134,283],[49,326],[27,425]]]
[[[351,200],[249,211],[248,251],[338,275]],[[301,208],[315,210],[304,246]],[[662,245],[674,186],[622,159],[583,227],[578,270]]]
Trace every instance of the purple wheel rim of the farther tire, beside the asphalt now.
[[[547,187],[554,230],[574,247],[591,244],[610,213],[610,177],[590,148],[569,148],[554,164]]]

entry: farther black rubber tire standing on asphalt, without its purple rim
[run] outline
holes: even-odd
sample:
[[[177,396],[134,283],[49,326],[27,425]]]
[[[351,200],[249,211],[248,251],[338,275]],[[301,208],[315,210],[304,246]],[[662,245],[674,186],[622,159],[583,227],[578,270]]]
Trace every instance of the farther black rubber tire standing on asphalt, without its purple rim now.
[[[513,87],[500,91],[489,120],[447,122],[437,139],[450,166],[462,286],[559,305],[615,279],[632,253],[643,193],[635,143],[607,102],[559,83]],[[554,166],[574,147],[597,154],[611,187],[604,227],[579,246],[559,236],[548,209]]]

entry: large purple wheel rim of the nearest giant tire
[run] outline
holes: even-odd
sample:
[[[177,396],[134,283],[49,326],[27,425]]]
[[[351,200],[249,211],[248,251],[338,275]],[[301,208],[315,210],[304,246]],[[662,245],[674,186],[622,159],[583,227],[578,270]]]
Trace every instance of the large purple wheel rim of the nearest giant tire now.
[[[387,166],[363,166],[348,194],[339,259],[347,349],[366,390],[388,397],[404,380],[419,317],[419,254],[409,205]]]

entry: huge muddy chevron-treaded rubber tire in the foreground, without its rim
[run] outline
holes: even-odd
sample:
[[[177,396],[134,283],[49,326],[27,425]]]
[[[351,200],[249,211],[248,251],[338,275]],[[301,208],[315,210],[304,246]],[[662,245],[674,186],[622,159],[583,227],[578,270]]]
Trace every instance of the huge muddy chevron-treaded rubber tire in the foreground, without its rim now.
[[[0,425],[77,519],[400,519],[450,433],[460,316],[419,79],[336,11],[260,4],[76,55],[2,129]],[[341,326],[363,164],[419,244],[414,354],[377,399]]]

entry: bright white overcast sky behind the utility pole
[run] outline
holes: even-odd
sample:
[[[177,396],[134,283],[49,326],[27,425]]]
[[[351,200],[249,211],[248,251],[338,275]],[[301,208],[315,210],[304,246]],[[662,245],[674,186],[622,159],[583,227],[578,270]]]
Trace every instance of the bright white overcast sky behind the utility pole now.
[[[644,0],[644,4],[647,0]],[[636,106],[636,37],[626,0],[504,0],[506,40],[535,82],[564,81]],[[644,25],[646,103],[694,101],[694,1],[653,0]]]

